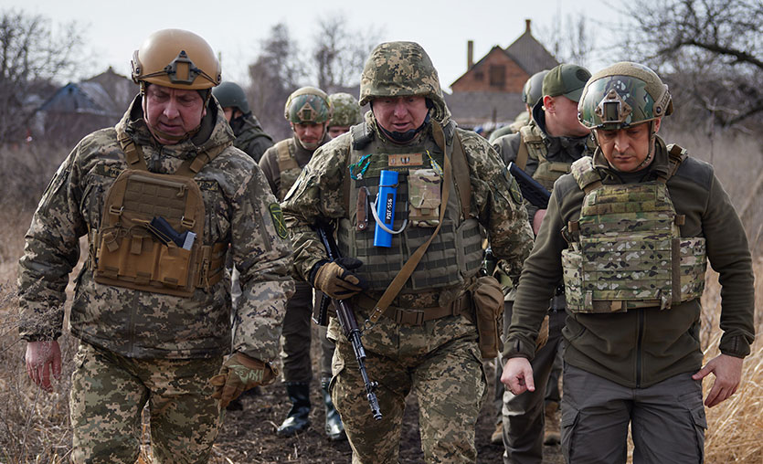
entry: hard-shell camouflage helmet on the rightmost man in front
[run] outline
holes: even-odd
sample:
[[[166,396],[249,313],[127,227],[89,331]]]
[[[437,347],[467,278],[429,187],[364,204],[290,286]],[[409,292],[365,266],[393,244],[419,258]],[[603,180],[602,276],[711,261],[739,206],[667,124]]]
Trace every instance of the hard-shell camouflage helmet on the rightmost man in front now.
[[[672,112],[668,86],[652,69],[627,61],[591,76],[578,103],[578,120],[590,129],[622,129]]]

